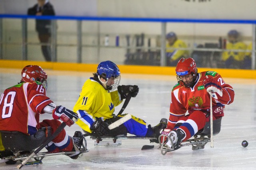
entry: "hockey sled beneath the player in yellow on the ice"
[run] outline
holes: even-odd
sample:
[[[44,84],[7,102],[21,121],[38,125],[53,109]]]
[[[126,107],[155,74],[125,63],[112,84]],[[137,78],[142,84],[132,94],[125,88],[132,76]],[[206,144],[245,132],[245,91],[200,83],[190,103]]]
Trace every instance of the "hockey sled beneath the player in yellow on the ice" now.
[[[155,137],[136,137],[136,136],[116,136],[116,137],[90,137],[94,141],[94,146],[99,147],[118,147],[122,145],[120,139],[152,139],[157,140]]]

